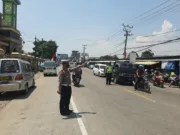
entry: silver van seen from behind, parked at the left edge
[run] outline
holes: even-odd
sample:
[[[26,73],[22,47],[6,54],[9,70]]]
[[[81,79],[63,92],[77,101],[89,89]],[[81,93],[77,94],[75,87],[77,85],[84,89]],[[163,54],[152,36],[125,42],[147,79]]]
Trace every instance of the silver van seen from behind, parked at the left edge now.
[[[34,71],[29,62],[20,59],[0,59],[0,92],[24,91],[35,86]]]

